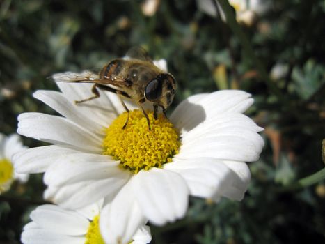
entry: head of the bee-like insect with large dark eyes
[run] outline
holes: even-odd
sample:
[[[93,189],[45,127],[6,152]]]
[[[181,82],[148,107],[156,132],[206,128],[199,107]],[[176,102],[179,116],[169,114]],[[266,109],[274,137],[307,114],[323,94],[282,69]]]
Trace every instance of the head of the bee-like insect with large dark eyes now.
[[[173,102],[176,82],[171,74],[160,74],[145,86],[145,99],[167,109]]]

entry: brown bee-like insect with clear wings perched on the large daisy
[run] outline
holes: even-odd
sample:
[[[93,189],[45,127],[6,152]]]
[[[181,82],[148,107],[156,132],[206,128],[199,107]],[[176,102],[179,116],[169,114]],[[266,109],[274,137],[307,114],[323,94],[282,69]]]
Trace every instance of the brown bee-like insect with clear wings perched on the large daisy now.
[[[158,109],[161,107],[166,116],[166,109],[173,102],[176,91],[176,82],[173,75],[166,73],[154,65],[148,53],[140,47],[134,47],[127,52],[123,59],[114,59],[100,70],[98,76],[93,73],[83,75],[67,75],[68,73],[56,76],[58,82],[91,83],[93,96],[83,100],[75,101],[76,104],[100,98],[98,89],[116,93],[125,111],[127,120],[123,129],[129,121],[129,109],[123,101],[129,98],[136,102],[148,122],[151,130],[150,120],[145,109],[141,105],[148,101],[154,109],[154,119],[158,118]]]

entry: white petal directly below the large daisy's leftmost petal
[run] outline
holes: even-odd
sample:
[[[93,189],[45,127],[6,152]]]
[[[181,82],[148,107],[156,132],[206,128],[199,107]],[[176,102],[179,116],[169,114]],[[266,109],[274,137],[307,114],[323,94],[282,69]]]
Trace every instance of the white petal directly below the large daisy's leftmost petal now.
[[[119,162],[107,155],[77,153],[67,155],[49,166],[44,175],[46,185],[61,186],[79,181],[125,178]]]

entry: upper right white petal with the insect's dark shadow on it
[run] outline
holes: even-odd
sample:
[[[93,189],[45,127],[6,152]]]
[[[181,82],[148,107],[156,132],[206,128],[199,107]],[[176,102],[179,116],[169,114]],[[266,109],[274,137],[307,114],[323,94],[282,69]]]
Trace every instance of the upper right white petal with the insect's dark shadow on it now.
[[[176,108],[171,121],[177,128],[189,131],[200,123],[214,120],[214,116],[221,113],[243,112],[243,109],[247,109],[253,103],[250,97],[251,94],[237,90],[216,91],[193,102],[189,102],[191,100],[189,97],[184,101],[187,111],[176,113]]]

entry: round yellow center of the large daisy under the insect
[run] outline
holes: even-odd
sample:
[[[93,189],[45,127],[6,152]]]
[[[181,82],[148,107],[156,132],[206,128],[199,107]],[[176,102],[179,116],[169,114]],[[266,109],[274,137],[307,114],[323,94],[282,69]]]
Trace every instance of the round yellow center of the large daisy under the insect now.
[[[120,165],[134,174],[141,169],[161,168],[164,163],[171,162],[180,148],[180,139],[173,124],[162,114],[157,120],[152,112],[147,114],[151,130],[143,113],[134,110],[129,113],[125,129],[122,127],[127,120],[127,112],[111,123],[104,138],[103,154],[120,160]]]

